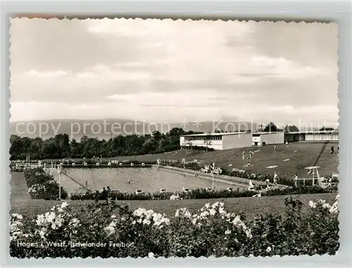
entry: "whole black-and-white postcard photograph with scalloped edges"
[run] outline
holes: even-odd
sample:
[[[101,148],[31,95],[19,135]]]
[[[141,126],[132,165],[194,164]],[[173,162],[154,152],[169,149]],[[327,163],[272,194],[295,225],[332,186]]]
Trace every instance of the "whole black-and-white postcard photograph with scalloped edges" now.
[[[337,253],[336,23],[9,32],[11,257]]]

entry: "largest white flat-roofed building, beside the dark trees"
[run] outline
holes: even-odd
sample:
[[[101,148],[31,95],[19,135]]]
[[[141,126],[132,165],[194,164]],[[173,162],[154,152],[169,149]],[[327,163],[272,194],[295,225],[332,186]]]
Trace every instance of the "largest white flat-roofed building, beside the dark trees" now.
[[[203,146],[214,150],[251,147],[251,132],[206,133],[180,136],[180,146]]]

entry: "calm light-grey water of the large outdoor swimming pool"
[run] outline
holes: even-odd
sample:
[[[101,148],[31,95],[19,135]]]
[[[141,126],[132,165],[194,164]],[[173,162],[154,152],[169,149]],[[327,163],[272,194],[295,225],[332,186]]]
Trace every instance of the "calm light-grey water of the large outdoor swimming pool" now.
[[[51,170],[51,173],[58,181],[56,170]],[[212,187],[212,181],[208,179],[156,170],[154,168],[67,169],[66,174],[68,176],[65,174],[61,176],[61,186],[69,193],[75,193],[82,189],[82,186],[75,181],[84,186],[87,181],[88,189],[92,190],[101,190],[103,187],[110,186],[111,190],[120,192],[134,192],[136,189],[141,189],[145,192],[156,192],[160,191],[160,189],[175,192],[182,190],[183,187],[188,189]],[[127,183],[128,180],[130,180],[130,184]],[[219,181],[214,181],[214,186],[215,189],[234,187],[233,184]]]

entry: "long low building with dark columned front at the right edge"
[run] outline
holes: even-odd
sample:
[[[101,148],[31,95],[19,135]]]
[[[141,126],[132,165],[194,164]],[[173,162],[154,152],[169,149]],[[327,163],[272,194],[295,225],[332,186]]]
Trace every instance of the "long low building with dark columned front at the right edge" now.
[[[315,132],[288,132],[284,134],[285,141],[339,141],[339,130]]]

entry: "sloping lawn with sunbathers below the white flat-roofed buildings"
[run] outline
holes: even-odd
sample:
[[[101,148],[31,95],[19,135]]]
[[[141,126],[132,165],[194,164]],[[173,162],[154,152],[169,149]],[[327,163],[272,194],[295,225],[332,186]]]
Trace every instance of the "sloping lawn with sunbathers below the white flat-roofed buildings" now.
[[[251,160],[242,160],[242,150],[244,149],[246,156],[248,156],[249,150],[256,151],[258,147],[211,152],[191,151],[188,154],[186,154],[186,150],[179,150],[155,155],[118,156],[113,159],[139,161],[155,161],[158,158],[161,160],[182,160],[182,158],[185,158],[187,161],[196,159],[204,161],[204,165],[215,162],[220,167],[228,169],[236,167],[243,170],[252,170],[260,174],[273,174],[274,171],[277,171],[281,177],[293,178],[296,173],[298,177],[307,177],[307,170],[304,170],[304,167],[314,164],[322,150],[322,146],[323,143],[298,142],[290,144],[289,149],[286,149],[284,144],[279,144],[276,153],[273,146],[262,146]],[[320,166],[320,175],[325,177],[331,176],[333,172],[338,172],[337,168],[339,166],[338,154],[330,154],[330,146],[331,144],[327,145],[317,163]],[[334,143],[334,147],[337,148],[337,143]],[[284,162],[283,160],[285,159],[290,160]],[[244,167],[248,162],[251,162],[253,166]],[[229,165],[232,166],[229,167]],[[272,165],[277,165],[278,167],[275,170],[267,168]]]

